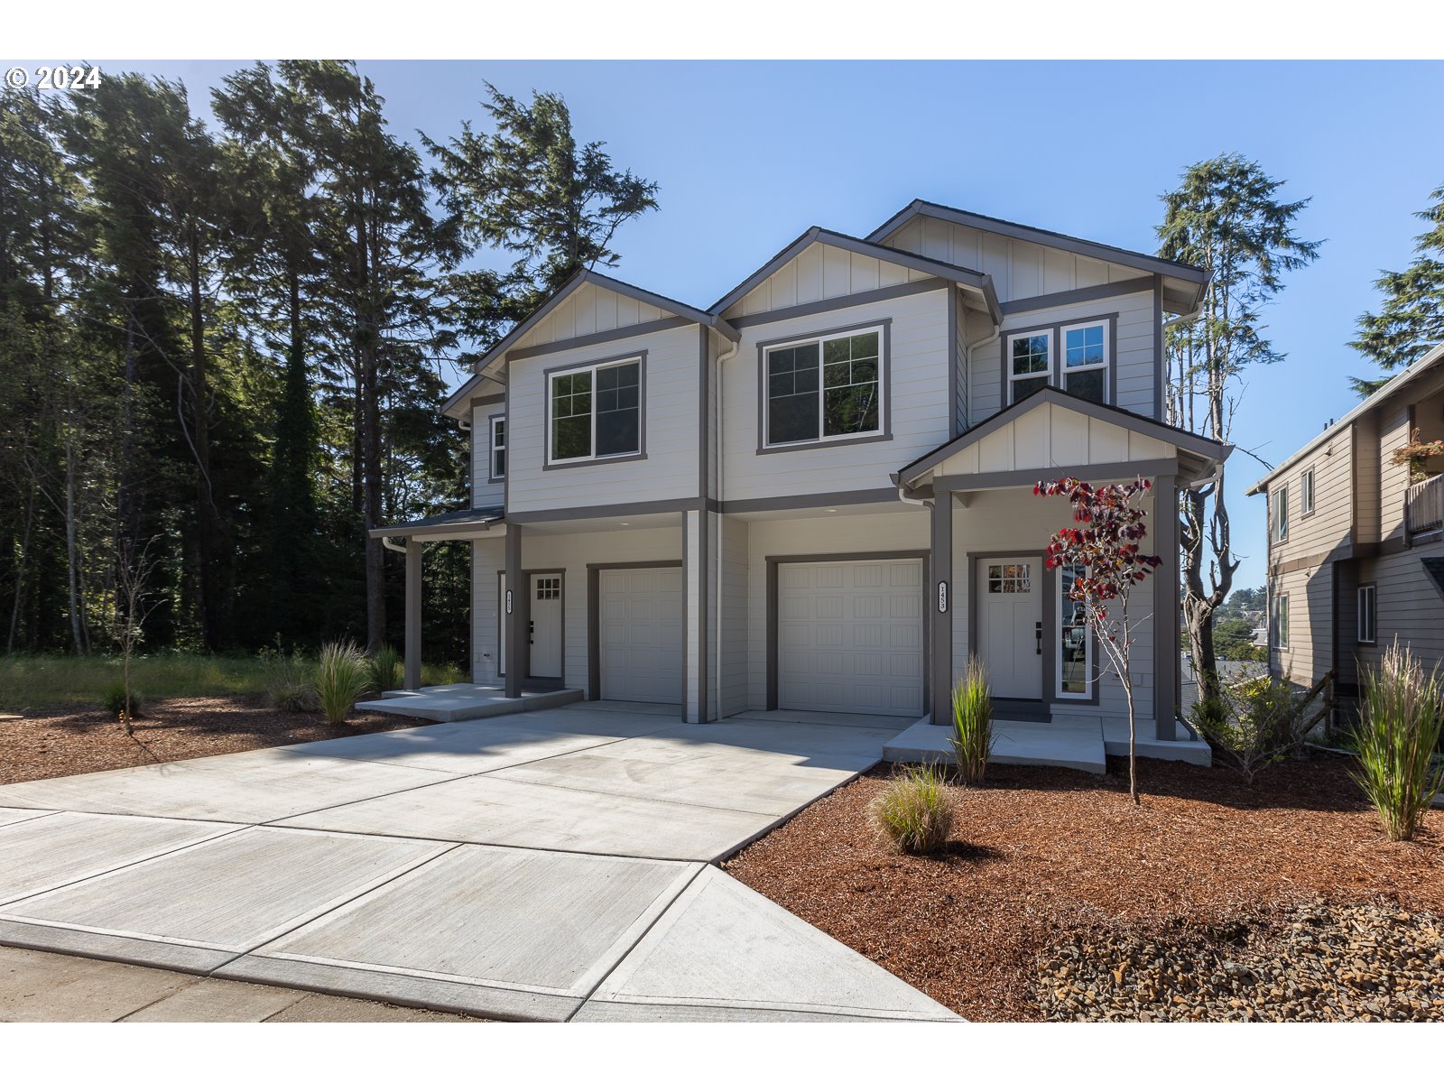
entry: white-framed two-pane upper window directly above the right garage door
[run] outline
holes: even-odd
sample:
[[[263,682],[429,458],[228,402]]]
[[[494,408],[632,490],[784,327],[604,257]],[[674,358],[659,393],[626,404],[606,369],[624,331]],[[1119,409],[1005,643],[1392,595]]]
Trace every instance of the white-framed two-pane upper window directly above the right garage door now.
[[[848,331],[765,351],[767,446],[882,432],[882,331]]]

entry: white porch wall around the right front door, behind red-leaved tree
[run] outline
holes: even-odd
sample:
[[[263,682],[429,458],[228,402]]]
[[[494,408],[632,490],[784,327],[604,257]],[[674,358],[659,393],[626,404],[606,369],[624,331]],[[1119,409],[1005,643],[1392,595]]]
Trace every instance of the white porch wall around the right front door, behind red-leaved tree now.
[[[1152,513],[1152,500],[1144,507]],[[973,553],[1041,553],[1048,539],[1060,527],[1071,526],[1071,505],[1061,497],[1035,497],[1031,490],[992,490],[973,492],[966,508],[953,513],[953,667],[960,671],[972,651],[969,627],[973,576],[969,557]],[[1152,534],[1145,540],[1145,549]],[[1038,557],[1041,565],[1041,557]],[[1040,566],[1040,572],[1041,572]],[[1057,572],[1043,572],[1057,575]],[[1141,621],[1138,641],[1132,648],[1134,706],[1138,721],[1154,716],[1154,579],[1149,576],[1134,588],[1129,599],[1131,619]],[[1050,618],[1044,615],[1044,622]],[[1051,648],[1045,644],[1044,650]],[[1096,657],[1095,648],[1095,657]],[[1165,677],[1171,680],[1171,673]],[[1090,718],[1128,718],[1128,699],[1116,677],[1105,676],[1099,686],[1099,703],[1053,703],[1054,715]]]

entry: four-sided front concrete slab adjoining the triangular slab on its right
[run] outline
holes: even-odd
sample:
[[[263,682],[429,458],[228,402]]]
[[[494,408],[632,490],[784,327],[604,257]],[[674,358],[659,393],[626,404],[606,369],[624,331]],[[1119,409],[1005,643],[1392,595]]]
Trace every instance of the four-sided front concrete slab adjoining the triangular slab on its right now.
[[[461,846],[219,975],[563,1021],[699,868]]]

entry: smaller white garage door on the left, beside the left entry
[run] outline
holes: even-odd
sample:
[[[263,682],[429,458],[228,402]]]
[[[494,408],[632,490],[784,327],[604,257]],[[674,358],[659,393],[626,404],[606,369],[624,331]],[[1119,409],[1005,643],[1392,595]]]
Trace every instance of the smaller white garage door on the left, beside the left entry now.
[[[598,573],[602,699],[682,702],[682,569]]]

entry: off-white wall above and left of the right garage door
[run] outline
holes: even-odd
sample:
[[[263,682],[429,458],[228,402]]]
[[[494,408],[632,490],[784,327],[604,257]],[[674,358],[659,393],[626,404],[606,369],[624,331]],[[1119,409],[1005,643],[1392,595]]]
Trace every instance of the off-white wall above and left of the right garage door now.
[[[747,709],[762,710],[767,708],[767,557],[926,552],[931,544],[927,508],[901,504],[900,507],[907,510],[890,510],[888,514],[848,516],[845,508],[839,508],[838,514],[754,520],[747,524],[747,622],[744,634]],[[728,517],[723,536],[734,530],[736,530],[734,518]],[[734,550],[729,563],[738,556]],[[729,654],[736,653],[738,644],[729,643],[723,650]],[[725,695],[728,695],[731,705],[736,703],[735,692]]]

